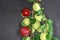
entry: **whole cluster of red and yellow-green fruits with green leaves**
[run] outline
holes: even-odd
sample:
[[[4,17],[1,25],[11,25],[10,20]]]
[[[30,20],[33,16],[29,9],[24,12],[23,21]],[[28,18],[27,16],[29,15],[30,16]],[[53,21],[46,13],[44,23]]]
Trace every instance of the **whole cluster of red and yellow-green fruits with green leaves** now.
[[[19,30],[22,40],[58,40],[53,38],[53,21],[47,19],[41,4],[34,1],[33,10],[24,8],[21,16],[24,17]]]

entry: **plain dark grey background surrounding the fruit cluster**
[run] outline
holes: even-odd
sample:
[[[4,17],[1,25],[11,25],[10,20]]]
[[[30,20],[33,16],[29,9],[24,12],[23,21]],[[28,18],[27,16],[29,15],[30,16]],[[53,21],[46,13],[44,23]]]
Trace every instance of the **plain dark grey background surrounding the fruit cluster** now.
[[[54,36],[60,38],[60,0],[43,0],[45,14],[55,21]],[[19,10],[23,7],[31,9],[26,0],[0,0],[0,40],[17,40],[16,29],[21,17]],[[19,22],[18,22],[19,21]]]

